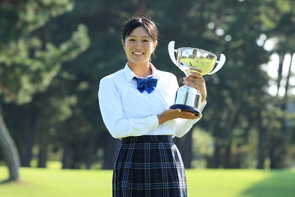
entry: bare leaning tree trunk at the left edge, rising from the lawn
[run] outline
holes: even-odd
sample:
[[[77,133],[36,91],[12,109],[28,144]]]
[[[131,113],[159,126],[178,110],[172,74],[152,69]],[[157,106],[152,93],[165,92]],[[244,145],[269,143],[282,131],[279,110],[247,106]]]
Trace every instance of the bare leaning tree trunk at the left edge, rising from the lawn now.
[[[20,158],[14,140],[11,138],[8,129],[3,120],[2,108],[0,105],[0,149],[7,167],[9,169],[9,178],[7,181],[19,180]]]

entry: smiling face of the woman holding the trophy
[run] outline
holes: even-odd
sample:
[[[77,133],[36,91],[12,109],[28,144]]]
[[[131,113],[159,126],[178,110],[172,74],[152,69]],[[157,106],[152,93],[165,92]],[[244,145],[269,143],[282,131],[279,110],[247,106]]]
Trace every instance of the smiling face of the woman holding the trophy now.
[[[125,42],[122,40],[128,62],[145,63],[156,48],[158,41],[153,42],[148,32],[143,27],[135,28]]]

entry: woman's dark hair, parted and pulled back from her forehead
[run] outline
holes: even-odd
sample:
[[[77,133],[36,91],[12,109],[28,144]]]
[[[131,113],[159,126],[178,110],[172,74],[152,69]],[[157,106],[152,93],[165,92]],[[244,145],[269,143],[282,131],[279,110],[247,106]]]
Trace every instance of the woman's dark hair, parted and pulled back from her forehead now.
[[[125,42],[126,37],[138,27],[143,27],[150,35],[153,42],[158,39],[158,28],[149,16],[132,16],[122,28],[122,39]]]

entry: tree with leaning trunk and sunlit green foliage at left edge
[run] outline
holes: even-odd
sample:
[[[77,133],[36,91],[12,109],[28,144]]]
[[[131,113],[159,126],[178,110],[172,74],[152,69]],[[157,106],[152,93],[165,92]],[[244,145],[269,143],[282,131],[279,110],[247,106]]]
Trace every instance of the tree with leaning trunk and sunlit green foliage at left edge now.
[[[59,46],[47,40],[42,32],[51,17],[70,11],[73,6],[71,0],[0,3],[1,18],[6,19],[0,22],[1,30],[5,30],[0,31],[0,102],[30,102],[35,93],[46,90],[59,72],[61,62],[73,60],[87,49],[89,38],[83,25]],[[0,128],[9,180],[17,180],[19,156],[4,121],[0,121]]]

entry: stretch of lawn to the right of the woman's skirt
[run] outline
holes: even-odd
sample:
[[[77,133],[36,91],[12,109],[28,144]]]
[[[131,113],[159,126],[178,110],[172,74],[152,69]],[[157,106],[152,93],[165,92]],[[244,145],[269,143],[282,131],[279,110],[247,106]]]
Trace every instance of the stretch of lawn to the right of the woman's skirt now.
[[[294,197],[294,170],[189,169],[192,197]]]

